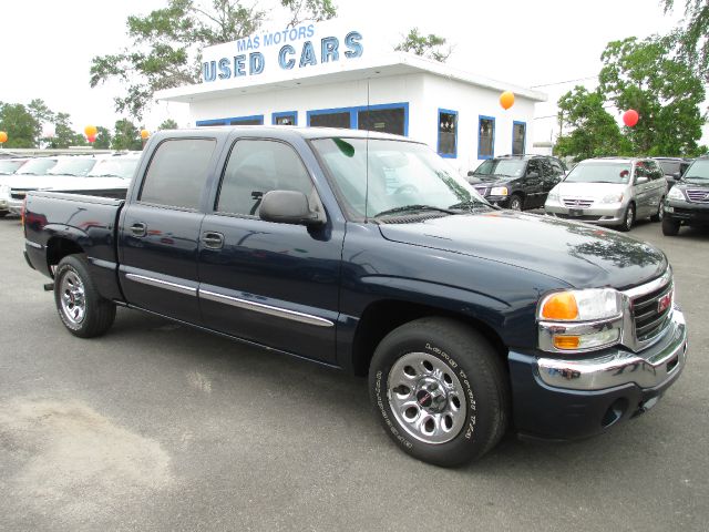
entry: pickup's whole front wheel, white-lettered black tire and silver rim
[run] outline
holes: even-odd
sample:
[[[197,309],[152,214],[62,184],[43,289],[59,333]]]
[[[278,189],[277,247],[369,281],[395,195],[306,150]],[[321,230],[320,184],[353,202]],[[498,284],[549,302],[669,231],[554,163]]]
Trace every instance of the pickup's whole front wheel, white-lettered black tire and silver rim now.
[[[414,361],[418,359],[421,359],[420,365]],[[408,360],[412,360],[420,375],[411,377],[407,372]],[[402,390],[398,385],[404,376],[395,368],[400,368],[402,361],[405,378],[411,379],[408,395],[408,387],[403,386]],[[425,362],[435,365],[431,372]],[[436,370],[442,371],[439,381],[445,382],[445,389],[439,387],[442,391],[433,397],[434,392],[429,393],[425,387],[420,387],[417,378],[433,380]],[[387,335],[372,357],[369,392],[376,416],[391,439],[404,452],[436,466],[455,467],[479,459],[500,441],[507,428],[510,386],[501,356],[480,332],[452,319],[417,319]],[[399,407],[395,413],[392,402],[397,398],[404,402],[407,398],[415,400],[415,407]],[[443,412],[429,410],[427,400],[430,406],[438,403]],[[417,413],[412,422],[404,426],[401,419],[413,416],[408,413],[410,409]],[[434,416],[439,416],[440,422],[433,422]],[[434,436],[427,437],[417,431],[413,419],[419,420],[420,430],[432,422],[442,434],[442,441],[425,441]],[[444,427],[449,421],[450,426]]]

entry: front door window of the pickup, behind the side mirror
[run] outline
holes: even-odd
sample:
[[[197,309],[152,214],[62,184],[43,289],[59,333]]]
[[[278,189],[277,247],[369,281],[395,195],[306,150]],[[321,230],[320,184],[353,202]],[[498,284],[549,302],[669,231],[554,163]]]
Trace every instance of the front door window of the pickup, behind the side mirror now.
[[[296,151],[277,141],[239,140],[222,177],[216,209],[258,216],[264,194],[298,191],[312,196],[312,182]]]

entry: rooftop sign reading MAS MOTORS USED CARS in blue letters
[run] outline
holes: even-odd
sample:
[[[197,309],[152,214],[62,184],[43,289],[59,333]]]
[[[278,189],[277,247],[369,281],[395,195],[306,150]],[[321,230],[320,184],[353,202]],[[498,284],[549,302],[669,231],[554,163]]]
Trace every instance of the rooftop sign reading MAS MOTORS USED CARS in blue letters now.
[[[333,22],[304,23],[263,31],[203,50],[202,81],[226,82],[249,76],[288,79],[342,65],[364,53],[362,33]]]

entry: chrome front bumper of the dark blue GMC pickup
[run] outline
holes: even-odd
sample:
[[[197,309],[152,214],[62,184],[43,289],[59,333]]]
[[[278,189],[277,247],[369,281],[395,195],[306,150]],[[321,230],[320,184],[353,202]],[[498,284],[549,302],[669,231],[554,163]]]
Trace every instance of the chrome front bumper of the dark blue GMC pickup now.
[[[603,390],[627,383],[657,388],[679,376],[686,358],[687,326],[675,307],[662,339],[651,347],[639,352],[617,349],[580,360],[537,358],[537,371],[544,383],[555,388]]]

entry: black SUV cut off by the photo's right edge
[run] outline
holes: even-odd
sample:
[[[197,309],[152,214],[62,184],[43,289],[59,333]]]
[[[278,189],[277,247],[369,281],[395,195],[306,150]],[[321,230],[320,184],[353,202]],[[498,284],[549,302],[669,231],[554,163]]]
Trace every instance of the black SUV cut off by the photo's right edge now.
[[[709,157],[699,157],[667,194],[662,234],[675,236],[682,225],[709,225]]]

